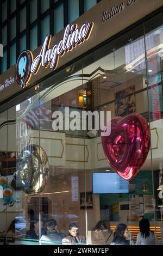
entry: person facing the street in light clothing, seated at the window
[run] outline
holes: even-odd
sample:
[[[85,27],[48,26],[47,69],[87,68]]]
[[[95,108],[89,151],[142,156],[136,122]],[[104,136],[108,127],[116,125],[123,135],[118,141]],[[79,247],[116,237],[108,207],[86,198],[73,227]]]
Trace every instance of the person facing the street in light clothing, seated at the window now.
[[[85,237],[79,235],[79,229],[76,223],[71,223],[68,227],[68,236],[62,239],[62,245],[77,245],[86,243]]]

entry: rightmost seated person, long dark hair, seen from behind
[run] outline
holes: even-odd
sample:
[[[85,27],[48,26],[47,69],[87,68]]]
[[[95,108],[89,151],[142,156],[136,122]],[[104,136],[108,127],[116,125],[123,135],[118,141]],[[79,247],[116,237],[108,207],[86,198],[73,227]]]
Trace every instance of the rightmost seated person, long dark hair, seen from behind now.
[[[158,237],[150,229],[147,218],[139,222],[140,233],[137,234],[136,245],[159,245]]]

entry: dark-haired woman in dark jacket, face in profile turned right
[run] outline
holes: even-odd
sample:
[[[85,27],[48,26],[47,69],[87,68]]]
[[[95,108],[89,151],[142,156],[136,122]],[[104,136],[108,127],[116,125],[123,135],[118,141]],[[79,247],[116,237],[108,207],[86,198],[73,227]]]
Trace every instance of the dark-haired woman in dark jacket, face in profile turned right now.
[[[127,225],[123,223],[118,224],[114,232],[114,239],[110,245],[130,245],[127,239],[129,239]]]

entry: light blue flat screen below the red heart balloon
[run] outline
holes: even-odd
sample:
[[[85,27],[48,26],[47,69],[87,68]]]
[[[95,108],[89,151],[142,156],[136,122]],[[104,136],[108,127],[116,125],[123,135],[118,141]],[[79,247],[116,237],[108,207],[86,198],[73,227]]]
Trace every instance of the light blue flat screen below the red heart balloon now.
[[[116,173],[92,173],[93,194],[128,193],[129,182]]]

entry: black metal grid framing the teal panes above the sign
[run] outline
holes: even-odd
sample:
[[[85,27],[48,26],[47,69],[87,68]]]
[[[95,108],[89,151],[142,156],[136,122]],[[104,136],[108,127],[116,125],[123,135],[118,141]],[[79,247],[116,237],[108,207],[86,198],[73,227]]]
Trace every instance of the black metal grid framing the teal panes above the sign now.
[[[7,19],[2,22],[2,3],[7,1]],[[4,46],[4,51],[7,50],[7,69],[10,68],[10,47],[16,41],[16,59],[20,54],[20,38],[26,33],[26,45],[27,49],[30,49],[30,29],[37,24],[37,47],[41,45],[41,21],[48,14],[50,16],[50,34],[54,35],[54,9],[61,3],[64,3],[64,27],[68,24],[68,0],[58,0],[54,3],[54,0],[49,0],[49,8],[41,13],[41,0],[37,0],[37,19],[30,23],[30,1],[25,0],[20,4],[20,0],[16,0],[16,10],[11,14],[11,1],[12,0],[0,0],[0,42],[2,42],[2,28],[7,25],[7,45]],[[84,0],[79,1],[79,16],[84,13]],[[96,0],[97,3],[101,0]],[[26,29],[20,33],[20,11],[26,6]],[[16,15],[16,38],[10,40],[10,21]],[[2,58],[0,58],[0,74],[2,74]]]

